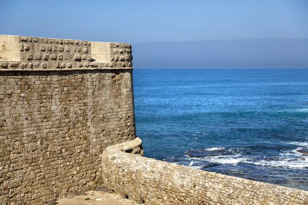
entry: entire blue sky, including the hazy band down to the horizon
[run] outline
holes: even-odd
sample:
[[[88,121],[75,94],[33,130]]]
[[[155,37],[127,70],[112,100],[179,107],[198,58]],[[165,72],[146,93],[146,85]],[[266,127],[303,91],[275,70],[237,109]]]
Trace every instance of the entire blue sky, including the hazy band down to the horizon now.
[[[0,0],[0,19],[0,34],[130,43],[134,68],[308,68],[308,0]]]

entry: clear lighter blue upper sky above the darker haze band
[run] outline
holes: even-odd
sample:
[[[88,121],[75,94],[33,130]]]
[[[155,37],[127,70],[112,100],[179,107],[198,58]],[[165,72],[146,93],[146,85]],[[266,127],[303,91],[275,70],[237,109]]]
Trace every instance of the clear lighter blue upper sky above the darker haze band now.
[[[308,38],[306,0],[0,0],[0,34],[145,43]]]

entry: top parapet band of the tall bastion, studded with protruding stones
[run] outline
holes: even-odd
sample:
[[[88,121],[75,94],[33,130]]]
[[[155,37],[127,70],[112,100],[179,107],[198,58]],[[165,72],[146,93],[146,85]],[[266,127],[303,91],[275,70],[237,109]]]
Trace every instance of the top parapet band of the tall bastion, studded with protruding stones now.
[[[132,68],[131,45],[0,35],[0,71]]]

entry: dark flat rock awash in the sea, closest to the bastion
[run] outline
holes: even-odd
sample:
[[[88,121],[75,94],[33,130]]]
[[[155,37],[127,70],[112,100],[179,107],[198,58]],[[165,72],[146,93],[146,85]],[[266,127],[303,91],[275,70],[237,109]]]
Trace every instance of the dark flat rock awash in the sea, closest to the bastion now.
[[[186,153],[189,157],[211,157],[211,156],[228,156],[235,155],[234,152],[228,149],[217,149],[217,150],[188,150]]]

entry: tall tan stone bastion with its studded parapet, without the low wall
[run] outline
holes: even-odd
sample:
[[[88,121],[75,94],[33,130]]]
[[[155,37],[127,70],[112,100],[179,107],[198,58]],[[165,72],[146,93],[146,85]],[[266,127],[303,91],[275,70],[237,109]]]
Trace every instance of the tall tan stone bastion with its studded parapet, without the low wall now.
[[[100,154],[136,138],[131,45],[0,35],[0,204],[102,182]]]

